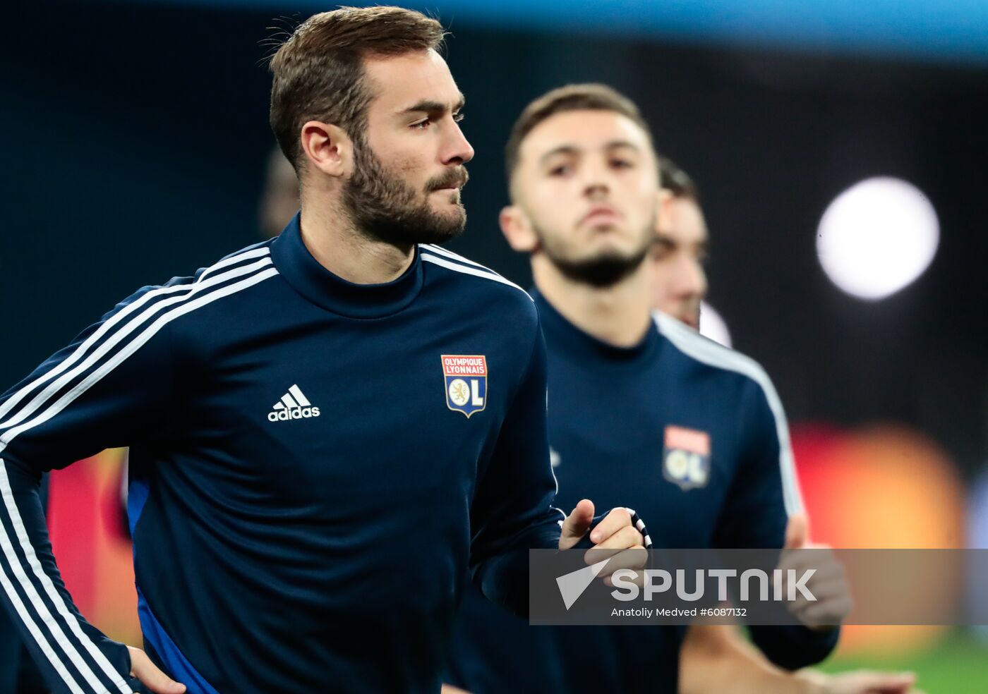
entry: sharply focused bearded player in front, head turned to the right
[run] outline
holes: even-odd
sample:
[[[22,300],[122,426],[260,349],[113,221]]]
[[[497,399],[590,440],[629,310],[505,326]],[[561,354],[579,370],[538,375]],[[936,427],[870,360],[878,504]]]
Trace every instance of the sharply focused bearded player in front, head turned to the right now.
[[[0,399],[3,602],[58,694],[436,691],[464,568],[524,613],[527,548],[590,528],[590,501],[550,505],[532,300],[431,245],[463,229],[473,156],[443,34],[399,8],[304,22],[271,65],[300,214]],[[38,499],[124,445],[146,654],[74,608]],[[624,510],[591,539],[641,542]]]

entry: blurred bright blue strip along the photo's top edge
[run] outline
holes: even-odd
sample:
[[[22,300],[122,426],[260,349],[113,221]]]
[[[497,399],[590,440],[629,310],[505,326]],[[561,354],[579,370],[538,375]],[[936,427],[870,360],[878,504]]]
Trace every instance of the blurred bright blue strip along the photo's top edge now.
[[[310,12],[313,0],[122,0]],[[366,5],[373,3],[352,2]],[[988,2],[953,0],[438,0],[395,3],[459,22],[555,32],[607,32],[839,53],[988,62]]]

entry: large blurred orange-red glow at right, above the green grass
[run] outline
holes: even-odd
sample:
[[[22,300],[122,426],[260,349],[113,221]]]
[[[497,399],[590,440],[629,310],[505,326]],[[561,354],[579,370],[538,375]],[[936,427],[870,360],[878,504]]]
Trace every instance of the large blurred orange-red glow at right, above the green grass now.
[[[810,537],[845,549],[964,547],[965,495],[956,467],[927,436],[898,425],[842,430],[792,426],[792,450]],[[960,599],[963,577],[931,584]],[[851,626],[842,655],[903,655],[932,647],[945,627]]]

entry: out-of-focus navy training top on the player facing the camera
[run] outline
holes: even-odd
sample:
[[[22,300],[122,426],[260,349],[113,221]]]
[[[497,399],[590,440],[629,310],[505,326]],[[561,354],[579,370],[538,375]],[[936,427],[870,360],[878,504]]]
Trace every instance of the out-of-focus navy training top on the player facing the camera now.
[[[656,314],[635,347],[584,333],[533,292],[548,353],[561,504],[627,505],[656,548],[779,548],[802,508],[782,404],[765,371]],[[565,507],[565,506],[564,506]],[[685,627],[529,626],[468,590],[447,680],[473,694],[678,691]],[[753,627],[773,661],[818,662],[838,630]]]

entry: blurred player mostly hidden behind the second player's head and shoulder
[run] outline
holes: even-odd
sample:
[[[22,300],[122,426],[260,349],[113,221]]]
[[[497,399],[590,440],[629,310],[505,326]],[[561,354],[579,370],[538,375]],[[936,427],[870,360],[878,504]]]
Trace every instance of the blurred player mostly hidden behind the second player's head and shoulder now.
[[[706,296],[703,265],[708,251],[706,222],[700,193],[690,176],[671,160],[660,157],[662,212],[649,254],[652,308],[700,328],[700,302]],[[654,525],[654,522],[653,522]],[[806,544],[806,519],[789,519],[786,545]],[[787,673],[745,642],[728,626],[694,625],[680,657],[680,692],[710,691],[827,692],[831,694],[901,694],[910,689],[915,675],[855,671],[839,675],[800,670]]]

